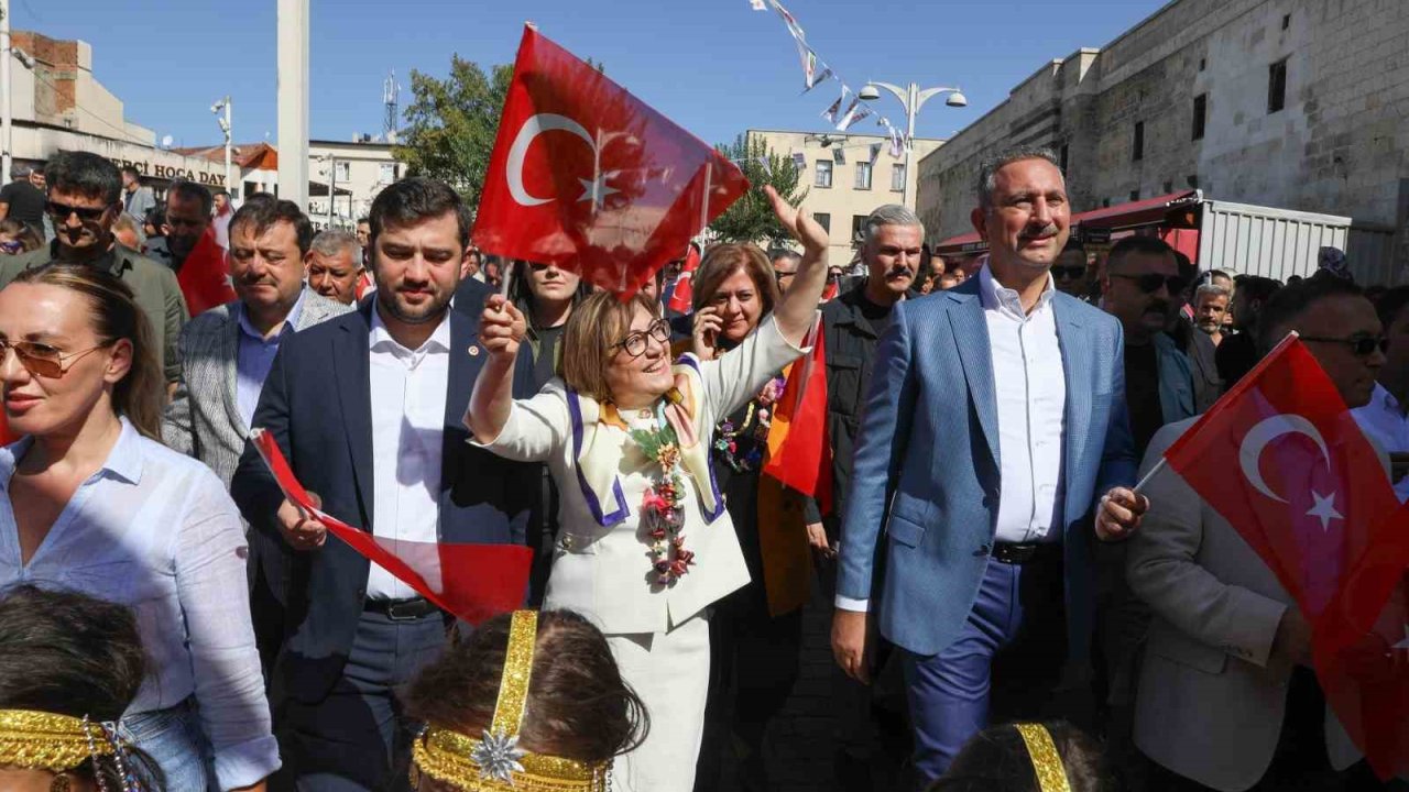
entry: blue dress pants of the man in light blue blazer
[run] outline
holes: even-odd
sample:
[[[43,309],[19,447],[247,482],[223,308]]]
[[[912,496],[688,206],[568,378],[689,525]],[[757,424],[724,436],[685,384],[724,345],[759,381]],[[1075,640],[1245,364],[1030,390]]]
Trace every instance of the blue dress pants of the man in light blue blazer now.
[[[1064,602],[1060,544],[1022,565],[989,558],[954,643],[936,655],[905,652],[921,789],[989,723],[1051,713],[1067,662]]]

